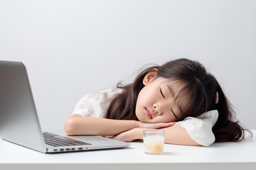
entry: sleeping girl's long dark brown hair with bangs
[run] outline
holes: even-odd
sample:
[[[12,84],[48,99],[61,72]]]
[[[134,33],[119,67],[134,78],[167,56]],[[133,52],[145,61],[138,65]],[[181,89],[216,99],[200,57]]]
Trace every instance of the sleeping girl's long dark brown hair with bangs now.
[[[234,109],[216,78],[200,62],[185,58],[166,62],[162,66],[148,67],[137,75],[133,83],[126,86],[119,82],[117,88],[122,88],[123,92],[112,99],[108,108],[108,119],[138,120],[135,115],[137,97],[144,87],[144,77],[153,68],[158,69],[156,78],[162,77],[167,79],[166,82],[176,81],[184,85],[175,99],[183,115],[182,119],[198,117],[209,110],[218,110],[218,120],[212,128],[215,142],[241,141],[245,138],[246,129],[235,120]],[[219,96],[217,104],[216,92]],[[252,136],[252,132],[250,133]]]

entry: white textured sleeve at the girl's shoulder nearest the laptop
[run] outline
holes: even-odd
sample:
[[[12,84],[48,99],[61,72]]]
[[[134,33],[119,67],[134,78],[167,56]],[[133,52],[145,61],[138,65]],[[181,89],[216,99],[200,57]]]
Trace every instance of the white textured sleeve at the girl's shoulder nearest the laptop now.
[[[99,91],[99,93],[89,93],[79,100],[72,115],[105,118],[112,97],[120,92],[120,88],[108,88]]]

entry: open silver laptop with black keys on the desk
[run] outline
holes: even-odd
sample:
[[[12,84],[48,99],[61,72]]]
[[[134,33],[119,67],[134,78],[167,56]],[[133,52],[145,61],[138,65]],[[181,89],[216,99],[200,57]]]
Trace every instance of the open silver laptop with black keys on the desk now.
[[[125,148],[101,136],[42,132],[24,62],[0,61],[0,138],[39,152]]]

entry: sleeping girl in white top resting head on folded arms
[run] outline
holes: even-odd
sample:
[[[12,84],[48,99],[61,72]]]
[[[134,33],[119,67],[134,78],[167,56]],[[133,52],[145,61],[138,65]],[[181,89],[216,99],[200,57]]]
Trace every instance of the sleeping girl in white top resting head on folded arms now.
[[[143,139],[165,130],[165,143],[209,146],[241,141],[245,129],[213,75],[197,61],[178,59],[142,71],[126,86],[85,95],[65,122],[67,135]]]

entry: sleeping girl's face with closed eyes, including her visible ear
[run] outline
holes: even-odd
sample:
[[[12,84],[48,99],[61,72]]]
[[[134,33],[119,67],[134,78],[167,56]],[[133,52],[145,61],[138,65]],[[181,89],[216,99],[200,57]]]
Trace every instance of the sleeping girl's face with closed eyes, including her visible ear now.
[[[145,123],[168,123],[178,121],[182,115],[174,103],[179,88],[161,84],[165,78],[155,79],[152,75],[145,76],[144,88],[139,92],[135,113],[139,121]]]

